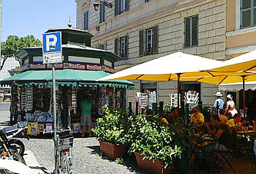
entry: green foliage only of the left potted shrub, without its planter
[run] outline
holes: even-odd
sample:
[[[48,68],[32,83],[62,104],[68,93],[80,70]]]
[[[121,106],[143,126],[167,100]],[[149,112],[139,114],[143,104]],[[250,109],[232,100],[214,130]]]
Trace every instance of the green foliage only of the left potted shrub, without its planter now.
[[[106,107],[105,115],[96,120],[95,128],[92,131],[98,137],[98,140],[114,144],[125,144],[129,141],[128,129],[127,113]]]

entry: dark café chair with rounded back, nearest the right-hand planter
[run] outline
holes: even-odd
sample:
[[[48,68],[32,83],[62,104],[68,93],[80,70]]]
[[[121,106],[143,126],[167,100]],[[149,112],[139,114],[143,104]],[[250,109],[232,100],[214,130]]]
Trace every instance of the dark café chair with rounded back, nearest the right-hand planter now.
[[[206,133],[197,140],[194,149],[194,173],[196,170],[207,172],[217,172],[217,157],[214,153],[218,150],[218,137],[214,134]]]

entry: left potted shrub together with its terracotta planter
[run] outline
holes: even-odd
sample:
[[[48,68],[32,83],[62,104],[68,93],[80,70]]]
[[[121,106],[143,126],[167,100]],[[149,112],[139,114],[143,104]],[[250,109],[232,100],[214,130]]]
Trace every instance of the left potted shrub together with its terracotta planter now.
[[[128,128],[128,117],[125,112],[105,107],[105,115],[96,120],[92,131],[98,137],[101,152],[111,159],[117,159],[125,153],[129,140]]]

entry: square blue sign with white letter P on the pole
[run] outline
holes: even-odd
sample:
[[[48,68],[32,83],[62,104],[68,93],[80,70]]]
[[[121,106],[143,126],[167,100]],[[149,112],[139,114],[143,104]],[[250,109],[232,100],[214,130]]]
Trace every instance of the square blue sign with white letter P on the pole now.
[[[62,51],[62,32],[52,32],[43,34],[42,52],[56,53]]]

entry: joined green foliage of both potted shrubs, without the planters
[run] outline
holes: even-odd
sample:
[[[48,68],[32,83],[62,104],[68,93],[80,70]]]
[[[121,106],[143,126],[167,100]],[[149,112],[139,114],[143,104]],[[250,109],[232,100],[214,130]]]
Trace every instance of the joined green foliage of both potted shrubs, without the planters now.
[[[161,117],[130,116],[119,110],[106,109],[96,120],[95,136],[108,143],[130,143],[130,153],[137,152],[145,159],[161,159],[165,167],[181,158],[185,148],[186,129],[182,123],[163,125]]]

